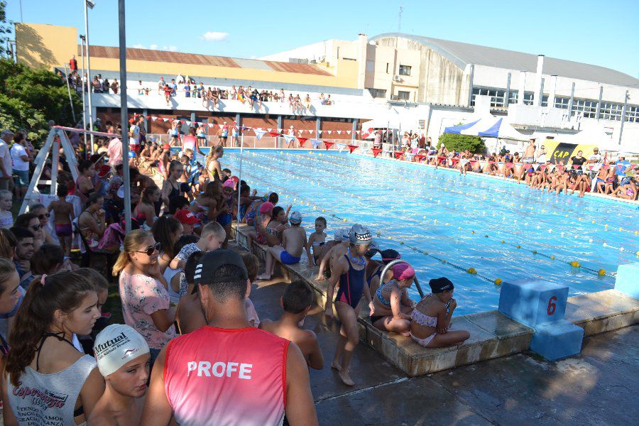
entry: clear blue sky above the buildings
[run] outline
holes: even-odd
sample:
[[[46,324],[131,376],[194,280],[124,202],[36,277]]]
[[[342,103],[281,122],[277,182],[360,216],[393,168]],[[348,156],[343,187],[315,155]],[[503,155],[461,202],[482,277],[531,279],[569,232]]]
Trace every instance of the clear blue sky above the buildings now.
[[[117,0],[89,10],[92,45],[117,45]],[[82,0],[22,0],[23,21],[77,26]],[[7,15],[20,21],[20,0]],[[180,9],[180,6],[183,6]],[[405,33],[544,54],[639,78],[639,1],[126,1],[126,43],[257,58],[329,38]]]

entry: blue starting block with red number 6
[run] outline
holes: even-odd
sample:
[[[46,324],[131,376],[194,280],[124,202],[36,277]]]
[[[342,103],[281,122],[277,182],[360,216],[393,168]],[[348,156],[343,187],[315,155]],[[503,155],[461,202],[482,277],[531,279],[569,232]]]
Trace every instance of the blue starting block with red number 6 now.
[[[503,283],[499,312],[535,329],[530,349],[549,361],[581,352],[584,329],[564,320],[568,287],[529,279]]]

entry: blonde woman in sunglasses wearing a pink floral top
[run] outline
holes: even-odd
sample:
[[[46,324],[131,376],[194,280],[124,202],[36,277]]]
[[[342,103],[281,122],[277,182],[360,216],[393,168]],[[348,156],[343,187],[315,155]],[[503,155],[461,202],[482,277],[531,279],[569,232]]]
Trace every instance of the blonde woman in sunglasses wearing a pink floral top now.
[[[176,336],[175,306],[160,272],[160,244],[148,231],[136,229],[124,237],[113,274],[120,275],[119,293],[124,322],[144,337],[151,349],[151,366],[165,344]]]

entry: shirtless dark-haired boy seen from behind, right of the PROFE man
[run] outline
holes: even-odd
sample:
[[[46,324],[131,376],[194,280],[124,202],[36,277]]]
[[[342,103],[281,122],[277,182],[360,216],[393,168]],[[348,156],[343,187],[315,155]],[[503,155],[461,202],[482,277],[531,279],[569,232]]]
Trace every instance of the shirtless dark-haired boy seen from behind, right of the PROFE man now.
[[[324,366],[324,356],[320,349],[320,342],[311,330],[302,329],[304,320],[313,302],[313,292],[305,283],[295,281],[286,286],[280,303],[284,309],[277,321],[263,320],[260,328],[276,336],[295,343],[306,359],[310,368],[321,370]]]

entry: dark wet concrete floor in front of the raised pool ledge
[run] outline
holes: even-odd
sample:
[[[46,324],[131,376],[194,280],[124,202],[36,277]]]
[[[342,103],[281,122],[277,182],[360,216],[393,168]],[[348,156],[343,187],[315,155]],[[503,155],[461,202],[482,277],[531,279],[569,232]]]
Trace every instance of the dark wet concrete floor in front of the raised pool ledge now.
[[[253,283],[261,318],[279,317],[285,286],[279,279]],[[315,332],[324,355],[324,368],[310,370],[320,425],[601,426],[631,425],[639,416],[639,327],[586,337],[581,354],[562,361],[524,351],[417,378],[360,344],[351,359],[354,387],[329,367],[339,322],[315,307],[304,328]]]

